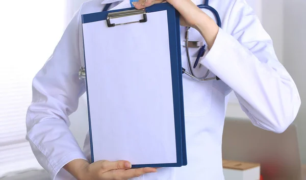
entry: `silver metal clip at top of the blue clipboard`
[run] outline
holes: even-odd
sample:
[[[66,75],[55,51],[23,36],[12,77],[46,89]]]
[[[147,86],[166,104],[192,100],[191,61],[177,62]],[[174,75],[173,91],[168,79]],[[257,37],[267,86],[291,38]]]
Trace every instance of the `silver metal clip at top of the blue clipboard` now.
[[[120,18],[120,17],[126,17],[126,16],[133,16],[133,15],[140,15],[143,14],[143,19],[140,19],[138,21],[132,21],[132,22],[124,22],[119,24],[112,24],[111,19]],[[112,12],[107,15],[107,25],[108,27],[114,27],[115,25],[123,25],[123,24],[130,24],[135,22],[146,22],[147,21],[147,15],[145,9],[140,10],[127,10],[127,11],[120,11],[120,12]]]

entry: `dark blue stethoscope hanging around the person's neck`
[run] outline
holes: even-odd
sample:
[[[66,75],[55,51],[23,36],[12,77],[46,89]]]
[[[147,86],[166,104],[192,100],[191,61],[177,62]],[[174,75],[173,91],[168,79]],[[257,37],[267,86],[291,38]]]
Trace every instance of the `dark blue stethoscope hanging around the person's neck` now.
[[[109,7],[111,6],[112,3],[109,3],[107,4],[103,11],[107,11],[109,9]],[[215,10],[213,7],[209,6],[209,0],[206,0],[204,4],[202,5],[198,5],[197,7],[201,8],[201,9],[207,9],[209,11],[211,11],[214,15],[215,15],[215,18],[217,19],[217,25],[219,28],[221,28],[221,19],[220,19],[220,16],[219,16],[219,13],[217,12],[217,10]],[[188,60],[188,66],[189,66],[189,70],[190,72],[187,72],[185,68],[183,68],[183,74],[187,74],[190,76],[190,78],[196,80],[196,81],[200,81],[200,82],[203,82],[203,81],[209,81],[209,80],[219,80],[219,78],[217,76],[215,76],[214,78],[207,78],[208,75],[210,74],[210,70],[207,70],[207,72],[205,73],[204,76],[198,78],[194,72],[193,72],[193,69],[195,69],[199,63],[199,60],[200,60],[200,57],[203,57],[204,54],[205,54],[205,45],[201,46],[200,49],[199,49],[199,52],[198,52],[198,55],[197,55],[197,58],[194,62],[194,65],[192,66],[191,64],[191,60],[190,60],[190,55],[189,55],[189,30],[190,30],[190,27],[187,27],[186,28],[186,37],[185,37],[185,49],[186,49],[186,55],[187,55],[187,60]]]

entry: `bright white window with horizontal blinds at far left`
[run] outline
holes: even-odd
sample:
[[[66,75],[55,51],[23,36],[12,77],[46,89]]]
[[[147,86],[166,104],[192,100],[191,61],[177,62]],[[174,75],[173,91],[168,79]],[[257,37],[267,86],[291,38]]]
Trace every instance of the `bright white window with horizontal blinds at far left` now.
[[[25,139],[32,80],[65,28],[65,1],[0,2],[0,177],[41,168]]]

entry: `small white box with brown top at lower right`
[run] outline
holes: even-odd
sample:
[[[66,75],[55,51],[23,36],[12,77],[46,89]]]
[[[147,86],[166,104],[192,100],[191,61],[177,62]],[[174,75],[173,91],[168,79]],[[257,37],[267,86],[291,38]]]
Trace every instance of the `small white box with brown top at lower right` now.
[[[260,180],[260,164],[223,160],[225,180]]]

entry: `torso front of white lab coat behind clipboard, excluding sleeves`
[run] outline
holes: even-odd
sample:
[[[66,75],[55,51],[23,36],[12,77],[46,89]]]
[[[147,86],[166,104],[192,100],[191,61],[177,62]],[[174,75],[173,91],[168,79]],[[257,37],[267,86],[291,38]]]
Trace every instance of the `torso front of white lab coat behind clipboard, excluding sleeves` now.
[[[83,14],[99,12],[103,9],[101,1],[91,1],[84,4]],[[199,0],[195,4],[203,3]],[[232,6],[231,0],[211,0],[210,5],[214,7],[221,16],[223,25],[228,19],[227,9]],[[222,9],[221,9],[222,8]],[[210,13],[208,13],[211,15]],[[226,20],[224,20],[226,19]],[[222,27],[224,29],[224,27]],[[185,27],[181,27],[181,41],[185,40]],[[82,34],[80,33],[80,36]],[[204,41],[203,37],[194,29],[190,30],[190,41]],[[183,44],[183,43],[182,43]],[[182,64],[189,71],[185,47],[182,47]],[[80,47],[80,52],[82,53]],[[189,48],[191,62],[195,61],[198,48]],[[82,54],[81,54],[82,55]],[[196,68],[197,75],[203,75],[207,69],[202,66]],[[214,76],[211,72],[209,77]],[[231,89],[222,81],[197,82],[183,75],[185,126],[187,140],[188,165],[180,168],[161,168],[157,173],[146,174],[133,180],[196,180],[210,179],[222,180],[222,132],[225,117],[226,97]],[[84,152],[90,159],[90,143],[87,135]]]

